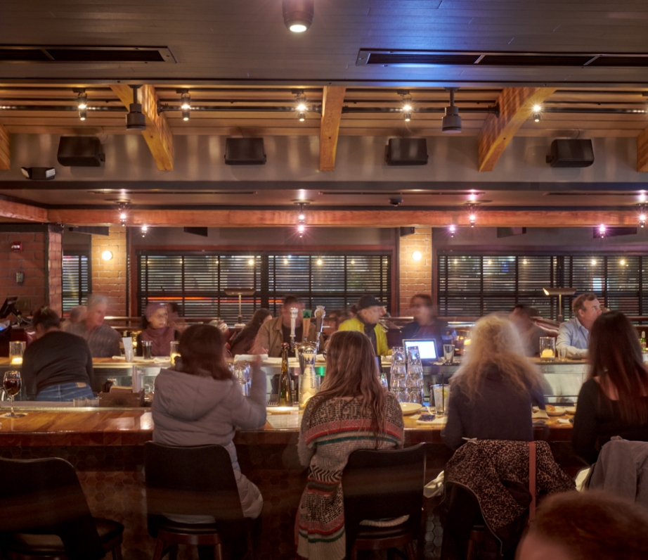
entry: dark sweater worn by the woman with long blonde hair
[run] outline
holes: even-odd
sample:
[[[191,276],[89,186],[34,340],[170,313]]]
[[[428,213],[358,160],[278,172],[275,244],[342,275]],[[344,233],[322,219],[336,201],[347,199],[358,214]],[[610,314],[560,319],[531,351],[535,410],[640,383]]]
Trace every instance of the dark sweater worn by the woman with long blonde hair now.
[[[441,433],[448,447],[457,449],[464,443],[463,438],[533,441],[531,407],[545,407],[542,391],[529,390],[520,395],[503,383],[494,368],[486,374],[473,402],[456,384],[451,388],[448,424]]]

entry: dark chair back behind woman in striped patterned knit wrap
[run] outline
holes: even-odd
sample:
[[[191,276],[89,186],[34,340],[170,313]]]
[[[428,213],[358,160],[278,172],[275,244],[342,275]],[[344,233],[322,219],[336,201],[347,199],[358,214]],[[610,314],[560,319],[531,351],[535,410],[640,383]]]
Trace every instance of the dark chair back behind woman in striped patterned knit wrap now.
[[[347,547],[364,519],[409,515],[420,526],[425,485],[425,443],[403,450],[357,450],[342,474]]]

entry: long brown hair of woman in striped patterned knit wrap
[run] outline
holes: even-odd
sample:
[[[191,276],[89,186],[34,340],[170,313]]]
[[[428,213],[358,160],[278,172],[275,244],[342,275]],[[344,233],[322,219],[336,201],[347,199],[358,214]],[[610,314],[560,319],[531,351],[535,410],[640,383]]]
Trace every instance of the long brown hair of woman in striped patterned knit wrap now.
[[[316,397],[313,414],[331,399],[351,397],[357,400],[363,417],[371,418],[378,448],[386,421],[384,389],[378,380],[373,345],[364,333],[337,331],[331,335],[326,350],[326,376]]]

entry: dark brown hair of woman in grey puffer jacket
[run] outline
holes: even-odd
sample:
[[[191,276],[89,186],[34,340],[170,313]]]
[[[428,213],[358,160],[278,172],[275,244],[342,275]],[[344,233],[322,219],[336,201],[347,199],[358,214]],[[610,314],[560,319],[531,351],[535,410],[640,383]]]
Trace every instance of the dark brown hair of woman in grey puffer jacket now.
[[[212,325],[192,325],[180,337],[182,371],[186,374],[211,374],[214,379],[231,379],[225,362],[223,335]]]

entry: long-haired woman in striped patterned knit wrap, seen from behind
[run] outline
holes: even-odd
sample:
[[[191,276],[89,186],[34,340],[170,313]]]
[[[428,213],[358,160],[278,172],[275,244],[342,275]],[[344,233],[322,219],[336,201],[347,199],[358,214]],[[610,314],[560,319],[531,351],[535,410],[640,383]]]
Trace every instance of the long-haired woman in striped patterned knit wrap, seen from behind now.
[[[340,481],[349,455],[358,449],[402,445],[401,407],[394,394],[380,386],[369,338],[357,331],[338,331],[328,345],[324,382],[306,405],[299,432],[299,461],[309,466],[295,527],[299,556],[344,558]]]

